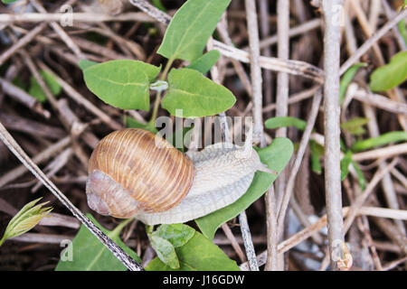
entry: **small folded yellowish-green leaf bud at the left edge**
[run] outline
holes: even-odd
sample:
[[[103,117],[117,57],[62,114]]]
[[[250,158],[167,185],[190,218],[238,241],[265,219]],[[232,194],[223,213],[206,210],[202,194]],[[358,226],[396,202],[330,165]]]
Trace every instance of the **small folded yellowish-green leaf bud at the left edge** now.
[[[17,214],[10,220],[5,228],[5,234],[0,239],[0,246],[5,242],[7,238],[14,238],[28,232],[34,228],[41,219],[47,217],[52,208],[43,208],[47,202],[43,202],[34,206],[39,200],[30,201],[23,209],[19,210]]]

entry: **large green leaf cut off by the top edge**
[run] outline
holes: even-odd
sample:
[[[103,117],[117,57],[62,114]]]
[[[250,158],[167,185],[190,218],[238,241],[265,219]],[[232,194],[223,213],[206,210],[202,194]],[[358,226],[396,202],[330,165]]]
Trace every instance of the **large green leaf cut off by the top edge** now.
[[[175,13],[157,53],[167,59],[193,62],[201,57],[209,37],[231,0],[188,0]]]

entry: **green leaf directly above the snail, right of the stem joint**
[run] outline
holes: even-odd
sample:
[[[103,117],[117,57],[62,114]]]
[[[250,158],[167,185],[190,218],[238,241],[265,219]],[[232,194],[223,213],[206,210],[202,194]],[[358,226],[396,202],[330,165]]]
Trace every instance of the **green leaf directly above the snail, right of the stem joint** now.
[[[232,92],[196,70],[171,70],[169,89],[161,106],[175,117],[207,117],[231,108]],[[180,115],[176,110],[182,109]]]

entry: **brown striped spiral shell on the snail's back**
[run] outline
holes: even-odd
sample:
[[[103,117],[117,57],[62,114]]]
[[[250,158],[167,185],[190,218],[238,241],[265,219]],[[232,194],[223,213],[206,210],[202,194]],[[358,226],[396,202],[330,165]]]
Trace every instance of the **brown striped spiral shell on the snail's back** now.
[[[102,215],[130,218],[175,207],[194,179],[191,159],[146,130],[104,137],[90,156],[88,204]]]

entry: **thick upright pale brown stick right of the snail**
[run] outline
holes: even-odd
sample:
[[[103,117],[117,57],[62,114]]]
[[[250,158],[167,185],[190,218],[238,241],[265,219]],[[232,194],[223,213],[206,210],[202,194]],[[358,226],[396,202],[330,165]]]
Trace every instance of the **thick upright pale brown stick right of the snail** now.
[[[339,8],[339,9],[338,9]],[[344,256],[342,192],[340,172],[340,105],[339,105],[339,60],[340,26],[338,13],[342,11],[342,0],[323,0],[322,10],[326,29],[324,35],[324,127],[325,127],[325,187],[327,201],[329,255],[331,268],[336,270],[336,254]]]

